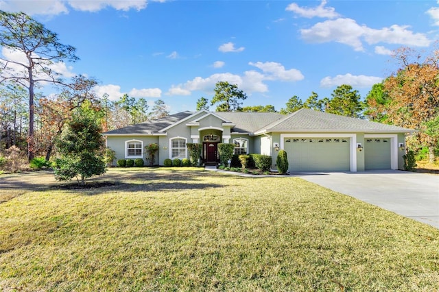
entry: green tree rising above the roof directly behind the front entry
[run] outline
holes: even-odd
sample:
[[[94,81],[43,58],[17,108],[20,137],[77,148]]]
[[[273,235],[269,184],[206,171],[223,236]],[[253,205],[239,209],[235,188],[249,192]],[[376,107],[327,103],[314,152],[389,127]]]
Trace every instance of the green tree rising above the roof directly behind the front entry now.
[[[229,84],[219,81],[215,84],[215,95],[211,100],[211,106],[217,105],[217,112],[237,112],[241,108],[241,100],[247,99],[247,95],[238,88],[237,84]]]

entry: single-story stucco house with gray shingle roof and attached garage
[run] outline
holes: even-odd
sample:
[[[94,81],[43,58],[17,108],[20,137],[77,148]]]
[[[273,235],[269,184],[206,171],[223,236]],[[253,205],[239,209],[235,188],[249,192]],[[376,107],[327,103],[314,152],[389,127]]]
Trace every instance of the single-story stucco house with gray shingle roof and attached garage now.
[[[405,134],[414,130],[301,109],[274,112],[178,112],[104,133],[117,159],[145,159],[145,145],[160,147],[156,164],[189,158],[187,143],[202,144],[202,162],[219,162],[218,143],[235,154],[272,156],[285,149],[289,171],[403,169]],[[272,165],[276,169],[275,165]]]

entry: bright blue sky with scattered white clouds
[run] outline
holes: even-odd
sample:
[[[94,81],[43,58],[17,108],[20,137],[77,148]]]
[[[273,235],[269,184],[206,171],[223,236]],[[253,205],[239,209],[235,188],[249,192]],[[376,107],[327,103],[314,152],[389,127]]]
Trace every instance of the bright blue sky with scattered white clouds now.
[[[66,77],[95,77],[113,100],[163,99],[171,113],[210,100],[218,81],[244,90],[244,106],[276,110],[341,84],[365,97],[396,69],[392,50],[431,52],[439,27],[438,2],[419,0],[0,0],[0,10],[26,12],[77,49],[78,62],[58,66]]]

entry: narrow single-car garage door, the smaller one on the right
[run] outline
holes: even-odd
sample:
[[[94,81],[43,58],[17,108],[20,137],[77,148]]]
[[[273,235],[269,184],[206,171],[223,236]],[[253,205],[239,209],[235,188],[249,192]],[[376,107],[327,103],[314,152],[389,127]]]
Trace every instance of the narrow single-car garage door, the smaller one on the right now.
[[[364,168],[391,169],[390,138],[366,138],[364,141]]]

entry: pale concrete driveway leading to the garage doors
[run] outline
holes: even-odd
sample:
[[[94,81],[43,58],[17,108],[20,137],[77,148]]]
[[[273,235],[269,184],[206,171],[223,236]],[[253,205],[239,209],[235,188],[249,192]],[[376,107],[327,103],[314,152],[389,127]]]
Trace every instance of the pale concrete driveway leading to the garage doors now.
[[[439,175],[392,170],[291,174],[439,228]]]

